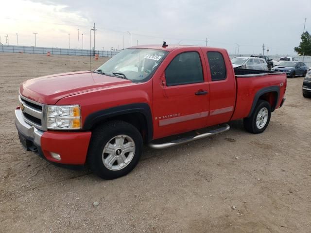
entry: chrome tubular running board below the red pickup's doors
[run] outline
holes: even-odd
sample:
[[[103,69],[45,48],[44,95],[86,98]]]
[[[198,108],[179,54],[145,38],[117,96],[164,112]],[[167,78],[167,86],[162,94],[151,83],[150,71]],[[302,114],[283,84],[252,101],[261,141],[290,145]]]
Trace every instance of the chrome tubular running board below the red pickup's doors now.
[[[224,124],[224,125],[222,125],[221,128],[218,128],[216,130],[211,130],[207,133],[202,133],[202,134],[191,136],[191,137],[184,137],[181,139],[176,139],[176,140],[173,140],[171,142],[161,143],[161,144],[155,144],[153,142],[150,142],[148,144],[148,146],[150,148],[153,148],[153,149],[165,149],[165,148],[177,146],[177,145],[180,145],[180,144],[183,144],[186,142],[191,142],[191,141],[198,140],[201,138],[209,137],[209,136],[215,135],[217,133],[223,133],[223,132],[228,131],[229,129],[230,129],[230,126],[228,124]]]

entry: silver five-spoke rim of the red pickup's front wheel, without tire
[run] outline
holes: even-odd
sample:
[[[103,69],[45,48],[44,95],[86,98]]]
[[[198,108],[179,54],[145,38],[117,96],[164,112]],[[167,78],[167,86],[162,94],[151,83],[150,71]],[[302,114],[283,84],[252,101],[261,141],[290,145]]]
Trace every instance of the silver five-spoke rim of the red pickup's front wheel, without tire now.
[[[117,135],[105,145],[102,155],[104,166],[117,171],[127,166],[135,154],[134,140],[128,135]]]

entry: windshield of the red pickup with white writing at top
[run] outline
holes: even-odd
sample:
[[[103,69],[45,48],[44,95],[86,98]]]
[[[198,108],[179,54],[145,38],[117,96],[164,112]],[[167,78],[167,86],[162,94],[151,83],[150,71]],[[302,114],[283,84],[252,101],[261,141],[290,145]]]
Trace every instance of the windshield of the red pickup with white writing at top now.
[[[146,82],[168,52],[150,49],[126,49],[100,66],[106,75],[125,78],[135,83]]]

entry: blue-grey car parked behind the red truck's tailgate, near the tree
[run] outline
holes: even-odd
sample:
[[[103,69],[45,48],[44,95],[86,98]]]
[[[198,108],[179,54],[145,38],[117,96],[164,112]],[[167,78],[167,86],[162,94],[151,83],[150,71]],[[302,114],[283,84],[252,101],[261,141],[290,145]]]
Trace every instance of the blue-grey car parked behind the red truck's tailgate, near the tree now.
[[[287,77],[306,76],[308,67],[303,62],[282,62],[280,65],[273,67],[272,70],[286,72]]]

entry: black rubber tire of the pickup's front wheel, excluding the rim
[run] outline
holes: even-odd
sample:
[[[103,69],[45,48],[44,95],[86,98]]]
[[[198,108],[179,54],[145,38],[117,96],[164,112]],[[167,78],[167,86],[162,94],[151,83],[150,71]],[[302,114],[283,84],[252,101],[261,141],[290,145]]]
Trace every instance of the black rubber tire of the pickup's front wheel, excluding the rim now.
[[[111,170],[104,166],[103,151],[105,145],[118,135],[128,135],[135,143],[133,158],[120,170]],[[90,169],[105,180],[112,180],[128,174],[138,164],[143,149],[143,140],[138,129],[124,121],[110,121],[100,125],[92,132],[88,149],[87,163]]]

